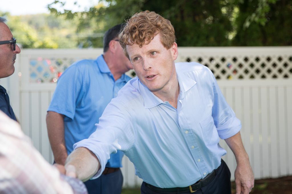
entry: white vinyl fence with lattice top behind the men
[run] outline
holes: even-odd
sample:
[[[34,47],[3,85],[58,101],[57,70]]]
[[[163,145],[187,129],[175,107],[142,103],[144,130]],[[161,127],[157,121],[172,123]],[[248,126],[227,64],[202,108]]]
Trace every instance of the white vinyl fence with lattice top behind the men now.
[[[15,73],[0,80],[23,131],[50,163],[45,118],[55,82],[74,61],[101,53],[102,49],[22,49]],[[292,47],[180,47],[176,62],[180,61],[197,61],[214,73],[242,122],[241,136],[255,178],[292,175]],[[227,150],[223,159],[233,180],[234,155],[223,140],[220,145]],[[142,180],[126,156],[123,166],[124,187],[140,186]]]

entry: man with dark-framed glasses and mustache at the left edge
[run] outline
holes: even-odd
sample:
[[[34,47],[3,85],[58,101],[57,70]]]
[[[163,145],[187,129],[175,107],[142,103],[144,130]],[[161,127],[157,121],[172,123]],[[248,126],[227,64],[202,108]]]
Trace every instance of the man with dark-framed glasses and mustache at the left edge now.
[[[14,73],[16,54],[20,53],[20,48],[16,44],[16,39],[13,38],[9,27],[4,22],[6,22],[6,19],[0,17],[0,79]],[[1,85],[0,110],[16,121],[6,89]]]

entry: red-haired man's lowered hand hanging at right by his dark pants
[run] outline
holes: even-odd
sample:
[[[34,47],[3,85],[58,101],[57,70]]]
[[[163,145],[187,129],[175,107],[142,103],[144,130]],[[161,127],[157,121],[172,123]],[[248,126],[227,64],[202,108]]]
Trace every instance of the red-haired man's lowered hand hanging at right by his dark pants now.
[[[234,177],[236,194],[248,194],[251,192],[254,187],[254,177],[249,161],[237,164]]]

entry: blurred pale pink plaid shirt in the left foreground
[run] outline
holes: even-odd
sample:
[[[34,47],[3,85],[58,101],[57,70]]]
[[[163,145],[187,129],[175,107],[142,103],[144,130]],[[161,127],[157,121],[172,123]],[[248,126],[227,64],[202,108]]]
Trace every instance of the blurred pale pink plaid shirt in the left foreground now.
[[[44,160],[17,122],[0,111],[0,193],[87,193]]]

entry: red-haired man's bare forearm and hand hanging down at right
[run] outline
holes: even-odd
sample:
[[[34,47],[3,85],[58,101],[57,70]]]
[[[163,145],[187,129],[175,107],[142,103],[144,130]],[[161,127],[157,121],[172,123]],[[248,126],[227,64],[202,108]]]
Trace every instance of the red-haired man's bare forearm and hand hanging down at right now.
[[[254,177],[248,155],[243,147],[240,132],[225,139],[227,145],[233,151],[237,162],[235,169],[236,194],[247,194],[254,186]]]

